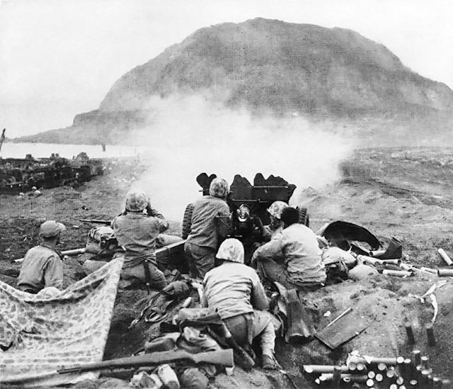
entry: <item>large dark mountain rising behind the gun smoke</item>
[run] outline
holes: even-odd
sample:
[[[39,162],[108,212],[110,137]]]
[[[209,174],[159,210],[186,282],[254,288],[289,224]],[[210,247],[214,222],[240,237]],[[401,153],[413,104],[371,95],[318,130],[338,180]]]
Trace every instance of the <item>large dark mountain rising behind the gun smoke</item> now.
[[[115,143],[144,125],[151,98],[173,94],[205,94],[253,115],[350,120],[453,111],[448,86],[355,31],[256,18],[195,31],[124,74],[98,110],[22,140]]]

